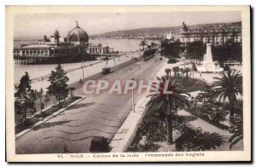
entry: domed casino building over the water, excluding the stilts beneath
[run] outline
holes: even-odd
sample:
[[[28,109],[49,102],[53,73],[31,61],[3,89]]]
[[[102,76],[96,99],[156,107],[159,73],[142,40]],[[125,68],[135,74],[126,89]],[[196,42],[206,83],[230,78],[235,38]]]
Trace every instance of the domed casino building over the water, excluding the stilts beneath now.
[[[58,57],[65,55],[108,55],[114,54],[113,48],[102,46],[101,43],[89,43],[89,36],[84,29],[75,26],[68,32],[67,37],[61,37],[60,33],[55,30],[51,37],[44,36],[42,41],[32,44],[23,44],[14,49],[14,56],[24,57]]]

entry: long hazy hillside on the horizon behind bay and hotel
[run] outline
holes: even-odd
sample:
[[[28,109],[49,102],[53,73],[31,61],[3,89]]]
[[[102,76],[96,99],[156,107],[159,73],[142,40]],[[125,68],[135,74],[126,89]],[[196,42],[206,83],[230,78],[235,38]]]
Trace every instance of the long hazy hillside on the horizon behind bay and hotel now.
[[[241,21],[231,23],[210,23],[188,26],[189,29],[214,29],[214,28],[229,28],[241,26]],[[144,38],[144,37],[163,37],[168,32],[178,33],[180,26],[170,27],[150,27],[150,28],[138,28],[132,30],[120,30],[113,32],[105,32],[102,34],[91,35],[91,38],[103,37],[103,38]]]

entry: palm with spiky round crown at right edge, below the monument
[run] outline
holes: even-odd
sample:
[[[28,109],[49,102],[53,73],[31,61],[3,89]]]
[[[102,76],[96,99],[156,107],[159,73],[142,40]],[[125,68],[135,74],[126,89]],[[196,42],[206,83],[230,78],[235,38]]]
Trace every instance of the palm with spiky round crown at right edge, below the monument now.
[[[240,72],[231,71],[227,73],[221,72],[219,75],[221,78],[214,78],[217,81],[212,84],[212,97],[218,98],[219,101],[229,100],[231,122],[231,118],[234,117],[236,95],[242,95],[242,76]]]

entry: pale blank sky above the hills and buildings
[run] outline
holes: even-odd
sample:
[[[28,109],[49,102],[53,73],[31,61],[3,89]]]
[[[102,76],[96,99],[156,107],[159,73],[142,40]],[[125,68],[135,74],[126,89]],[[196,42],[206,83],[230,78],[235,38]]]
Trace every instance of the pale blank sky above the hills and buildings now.
[[[76,26],[89,35],[145,27],[241,21],[241,12],[179,12],[179,13],[83,13],[83,14],[17,14],[15,37],[48,37],[57,29],[61,37]]]

